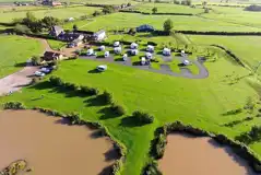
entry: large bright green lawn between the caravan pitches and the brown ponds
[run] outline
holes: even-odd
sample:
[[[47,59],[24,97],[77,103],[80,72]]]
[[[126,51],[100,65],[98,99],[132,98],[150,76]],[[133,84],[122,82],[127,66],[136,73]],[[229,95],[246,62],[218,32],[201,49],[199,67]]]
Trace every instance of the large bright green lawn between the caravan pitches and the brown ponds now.
[[[105,106],[95,103],[94,97],[79,97],[71,93],[56,91],[45,82],[26,88],[22,93],[2,97],[0,103],[21,101],[29,107],[39,106],[63,113],[79,112],[86,120],[100,121],[108,128],[111,136],[128,149],[122,172],[124,175],[141,173],[141,168],[150,160],[147,153],[153,132],[156,127],[166,122],[179,119],[185,124],[225,133],[230,138],[260,124],[256,118],[257,109],[253,114],[244,112],[232,116],[223,115],[228,110],[242,107],[249,96],[259,98],[258,92],[249,85],[249,81],[256,82],[256,79],[248,77],[249,71],[226,59],[206,62],[210,77],[202,80],[164,75],[108,62],[106,62],[108,65],[106,72],[91,71],[103,63],[105,62],[81,59],[63,61],[55,74],[67,82],[112,93],[114,100],[127,109],[127,114],[122,117],[100,113]],[[242,79],[235,81],[238,77]],[[41,94],[45,97],[35,101]],[[129,118],[135,109],[154,115],[154,124],[137,126],[135,121]],[[224,126],[249,115],[254,117],[254,122],[245,121],[235,127]],[[260,145],[261,143],[254,143],[250,147],[261,158]]]

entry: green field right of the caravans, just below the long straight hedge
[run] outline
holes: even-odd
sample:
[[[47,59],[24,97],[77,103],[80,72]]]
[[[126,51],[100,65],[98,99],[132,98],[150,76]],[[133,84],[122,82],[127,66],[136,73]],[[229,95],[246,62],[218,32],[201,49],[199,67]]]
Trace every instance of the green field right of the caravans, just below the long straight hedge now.
[[[251,68],[256,67],[261,56],[261,36],[189,36],[194,44],[217,44],[232,50]],[[261,70],[259,71],[261,72]]]

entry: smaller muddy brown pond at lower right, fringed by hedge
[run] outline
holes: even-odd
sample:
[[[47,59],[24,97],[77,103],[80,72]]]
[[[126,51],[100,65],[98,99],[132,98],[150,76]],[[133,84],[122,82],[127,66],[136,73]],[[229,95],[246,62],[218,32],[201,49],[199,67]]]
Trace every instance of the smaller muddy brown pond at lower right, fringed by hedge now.
[[[164,175],[256,175],[227,147],[211,138],[169,135],[159,170]]]

